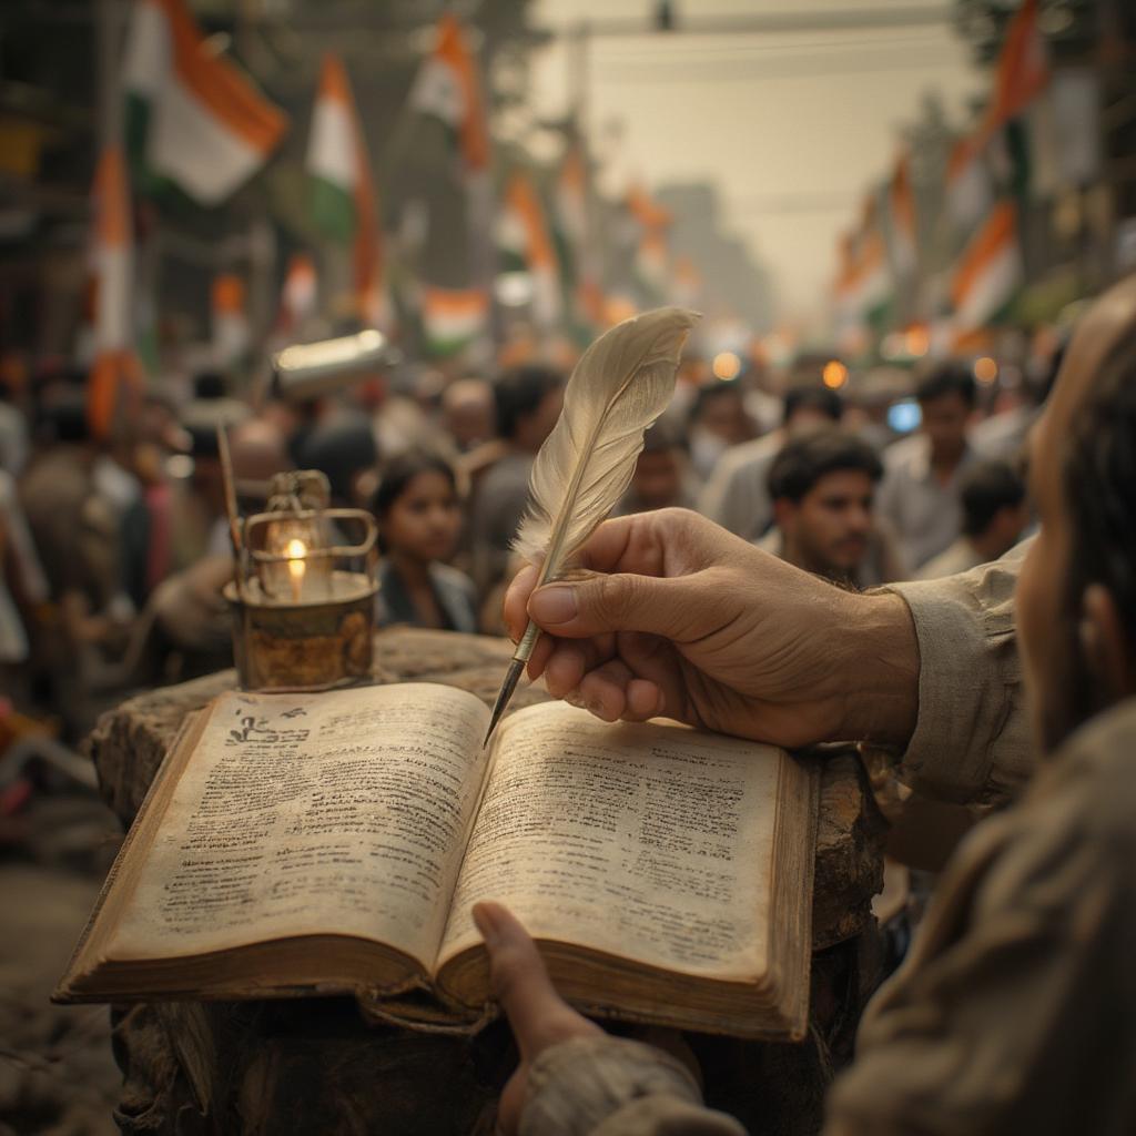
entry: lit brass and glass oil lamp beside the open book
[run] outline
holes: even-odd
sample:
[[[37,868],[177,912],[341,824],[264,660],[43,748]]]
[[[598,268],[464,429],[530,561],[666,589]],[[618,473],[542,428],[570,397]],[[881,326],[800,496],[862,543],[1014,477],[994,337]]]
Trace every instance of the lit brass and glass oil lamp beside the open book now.
[[[309,469],[277,474],[264,512],[231,507],[225,598],[245,690],[325,690],[370,674],[375,520],[329,500],[327,478]]]

